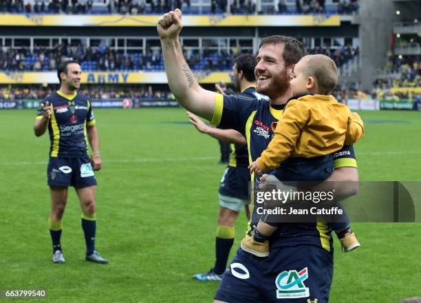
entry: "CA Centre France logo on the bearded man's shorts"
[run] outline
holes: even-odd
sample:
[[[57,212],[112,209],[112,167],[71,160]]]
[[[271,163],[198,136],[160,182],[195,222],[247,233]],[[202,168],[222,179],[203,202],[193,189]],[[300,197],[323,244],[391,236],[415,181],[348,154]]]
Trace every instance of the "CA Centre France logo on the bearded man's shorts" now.
[[[307,267],[299,272],[292,270],[279,273],[275,280],[277,286],[277,299],[310,297],[310,291],[304,284],[304,281],[307,280],[307,278]]]

